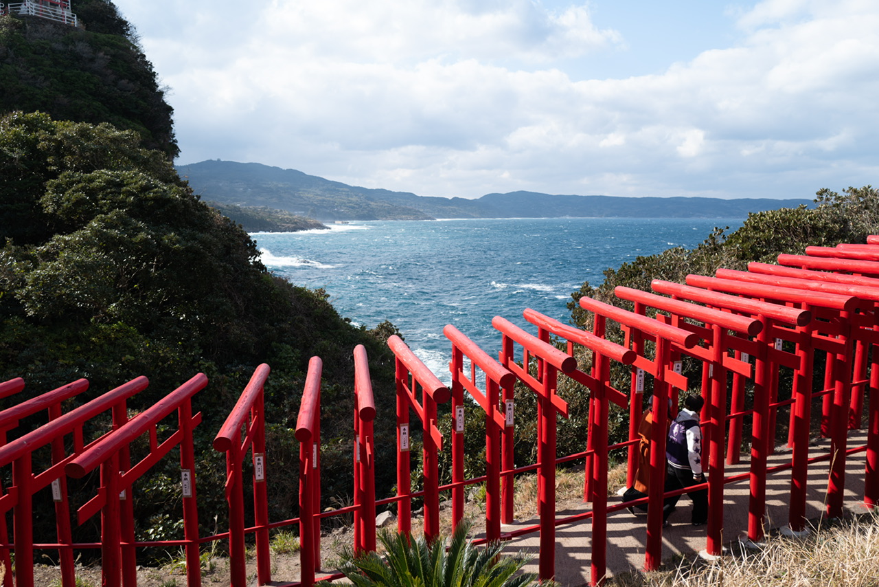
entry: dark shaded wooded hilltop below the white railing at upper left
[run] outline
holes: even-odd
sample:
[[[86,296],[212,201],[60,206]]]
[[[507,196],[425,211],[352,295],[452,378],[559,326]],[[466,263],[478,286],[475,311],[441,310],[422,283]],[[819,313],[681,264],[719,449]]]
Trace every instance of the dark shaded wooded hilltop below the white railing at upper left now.
[[[0,115],[39,110],[55,119],[109,122],[176,157],[173,109],[132,27],[106,0],[83,0],[76,12],[85,30],[0,17]]]

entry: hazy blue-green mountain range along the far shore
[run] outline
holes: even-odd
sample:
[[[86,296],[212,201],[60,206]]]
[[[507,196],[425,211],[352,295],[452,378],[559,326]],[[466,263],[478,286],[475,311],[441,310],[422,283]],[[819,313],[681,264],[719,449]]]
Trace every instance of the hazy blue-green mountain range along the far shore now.
[[[319,220],[564,216],[735,218],[747,216],[748,212],[796,208],[813,203],[804,199],[629,198],[536,192],[486,194],[476,200],[425,197],[409,192],[349,186],[294,169],[220,160],[178,165],[178,172],[189,180],[196,194],[206,200],[283,209]]]

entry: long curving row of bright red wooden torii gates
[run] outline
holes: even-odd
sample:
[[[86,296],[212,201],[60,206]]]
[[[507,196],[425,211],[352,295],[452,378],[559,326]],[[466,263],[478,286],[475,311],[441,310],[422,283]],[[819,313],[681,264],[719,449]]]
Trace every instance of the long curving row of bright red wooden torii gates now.
[[[193,459],[193,428],[200,415],[193,415],[190,400],[207,385],[198,375],[169,394],[156,406],[129,419],[125,400],[148,385],[138,378],[81,407],[62,414],[62,401],[87,388],[80,380],[59,390],[26,400],[0,412],[0,466],[12,466],[12,485],[0,495],[0,512],[14,512],[14,539],[7,537],[0,524],[0,561],[11,569],[10,548],[16,552],[15,583],[33,585],[34,548],[52,548],[60,553],[63,587],[73,587],[73,552],[77,544],[71,537],[66,478],[82,478],[100,468],[100,487],[89,503],[77,510],[80,523],[101,513],[102,550],[105,585],[136,584],[135,548],[177,544],[185,549],[187,584],[200,585],[200,545],[217,539],[229,540],[231,583],[247,584],[245,535],[253,533],[256,543],[258,584],[270,583],[269,532],[286,525],[299,525],[301,539],[300,581],[288,584],[311,585],[320,568],[321,519],[351,512],[354,518],[355,552],[374,550],[375,512],[378,507],[396,503],[398,532],[411,532],[411,500],[424,502],[424,532],[428,539],[440,534],[439,495],[448,491],[452,501],[452,524],[463,517],[464,491],[468,484],[484,483],[485,540],[512,539],[528,532],[540,533],[539,574],[541,579],[555,576],[556,526],[583,519],[592,523],[591,581],[600,584],[607,574],[607,514],[633,503],[608,503],[607,467],[609,451],[628,451],[628,484],[635,474],[637,426],[641,418],[645,379],[652,378],[653,426],[665,430],[665,406],[672,400],[676,409],[678,391],[690,385],[681,374],[682,356],[701,362],[701,394],[704,449],[708,455],[709,516],[706,552],[722,552],[723,489],[740,478],[724,475],[726,463],[737,462],[743,423],[751,418],[750,484],[747,539],[763,539],[766,522],[766,477],[790,470],[788,532],[804,532],[806,519],[806,479],[810,463],[830,462],[826,515],[843,515],[846,456],[866,451],[864,504],[872,509],[879,500],[879,355],[869,350],[879,345],[879,237],[866,245],[809,247],[805,255],[780,255],[779,264],[752,263],[747,271],[720,269],[714,277],[688,275],[686,284],[654,281],[656,293],[617,288],[615,294],[634,304],[628,312],[584,297],[579,304],[592,312],[592,332],[563,325],[532,310],[524,312],[537,334],[528,334],[509,320],[496,317],[492,325],[502,334],[502,346],[495,360],[456,328],[447,326],[452,342],[451,385],[444,385],[396,336],[388,344],[396,356],[396,495],[376,499],[374,489],[373,421],[376,417],[366,350],[354,350],[354,503],[348,508],[321,511],[320,493],[320,380],[322,363],[313,357],[302,394],[296,425],[301,442],[300,516],[270,522],[267,515],[266,485],[271,475],[265,471],[265,419],[263,386],[269,376],[267,365],[255,371],[236,407],[214,439],[214,449],[226,454],[226,495],[229,501],[229,530],[214,536],[199,535],[198,508]],[[663,294],[663,295],[660,295]],[[655,318],[648,317],[652,309]],[[618,323],[625,333],[623,344],[605,337],[607,321]],[[567,341],[566,351],[551,341]],[[588,371],[574,358],[579,346],[592,351]],[[516,350],[519,349],[519,353]],[[817,354],[818,353],[818,354]],[[823,385],[813,385],[812,371],[817,357],[825,360]],[[611,385],[612,363],[626,365],[631,385],[621,391]],[[532,367],[536,365],[536,369]],[[792,386],[779,392],[780,369],[793,373]],[[731,373],[731,386],[728,384]],[[589,426],[585,451],[558,458],[556,418],[569,415],[568,404],[556,392],[560,377],[573,378],[590,393]],[[752,380],[753,405],[745,409],[745,379]],[[482,382],[482,385],[480,384]],[[512,461],[514,435],[513,391],[517,382],[534,392],[537,400],[537,462],[516,468]],[[649,383],[649,380],[647,381]],[[0,384],[0,397],[18,393],[24,381]],[[731,389],[730,389],[731,387]],[[813,387],[817,387],[814,390]],[[420,392],[420,393],[419,393]],[[465,392],[469,400],[465,399]],[[728,396],[730,401],[728,402]],[[830,438],[830,451],[810,455],[810,422],[813,400],[821,398],[821,432]],[[451,401],[452,482],[439,483],[439,451],[443,437],[439,431],[438,404]],[[471,401],[472,400],[472,401]],[[608,446],[607,416],[613,403],[629,413],[629,439]],[[728,406],[729,403],[729,406]],[[868,419],[867,442],[847,445],[848,431],[862,427]],[[478,405],[484,411],[486,472],[483,477],[464,479],[464,408]],[[767,466],[774,450],[776,415],[780,407],[790,407],[788,444],[790,462]],[[7,432],[27,415],[46,409],[49,422],[5,442]],[[101,412],[113,414],[113,430],[90,444],[83,441],[84,423]],[[178,414],[178,430],[160,441],[157,424]],[[410,413],[423,429],[423,490],[411,490]],[[817,417],[815,418],[817,422]],[[417,424],[416,424],[417,425]],[[165,425],[167,426],[167,425]],[[727,427],[729,431],[727,432]],[[63,437],[72,434],[73,450],[65,452]],[[141,435],[149,434],[149,456],[130,462],[130,447]],[[651,435],[650,490],[645,498],[647,543],[644,569],[657,569],[662,560],[662,504],[665,496],[665,433]],[[34,474],[33,451],[51,445],[53,465]],[[137,541],[134,515],[127,492],[172,448],[179,446],[185,538],[178,541]],[[244,525],[243,470],[250,455],[253,475],[255,524]],[[585,501],[591,510],[575,517],[556,519],[556,465],[562,461],[585,459]],[[539,524],[502,532],[502,524],[512,522],[512,491],[515,474],[535,470],[538,477]],[[741,477],[741,476],[740,476]],[[49,485],[53,489],[58,537],[56,543],[35,544],[33,540],[33,496]],[[692,488],[688,488],[692,490]],[[682,493],[683,490],[677,493]],[[674,493],[674,492],[672,492]],[[130,494],[129,494],[130,495]],[[319,578],[338,577],[338,574]],[[7,572],[5,587],[12,587]],[[272,583],[280,584],[280,583]]]

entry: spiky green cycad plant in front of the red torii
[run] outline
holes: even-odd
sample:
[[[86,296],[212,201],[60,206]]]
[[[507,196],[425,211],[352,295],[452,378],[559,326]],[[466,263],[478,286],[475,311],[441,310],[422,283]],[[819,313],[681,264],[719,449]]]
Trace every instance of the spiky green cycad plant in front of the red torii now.
[[[534,573],[519,573],[527,557],[501,557],[498,542],[476,547],[467,531],[468,525],[459,525],[448,547],[440,539],[428,544],[424,538],[381,532],[386,554],[347,553],[340,570],[354,587],[527,587],[537,581]]]

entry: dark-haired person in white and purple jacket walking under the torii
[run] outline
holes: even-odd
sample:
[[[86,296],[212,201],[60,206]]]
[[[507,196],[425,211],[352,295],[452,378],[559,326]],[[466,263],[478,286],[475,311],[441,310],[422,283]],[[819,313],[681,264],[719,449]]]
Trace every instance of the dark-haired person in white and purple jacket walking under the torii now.
[[[702,473],[702,433],[699,427],[699,412],[705,400],[700,395],[688,395],[684,399],[684,408],[674,419],[668,430],[668,441],[665,444],[665,490],[682,489],[705,482]],[[693,500],[693,525],[703,525],[708,521],[708,489],[688,491],[686,495]],[[665,500],[663,521],[674,511],[680,495]]]

